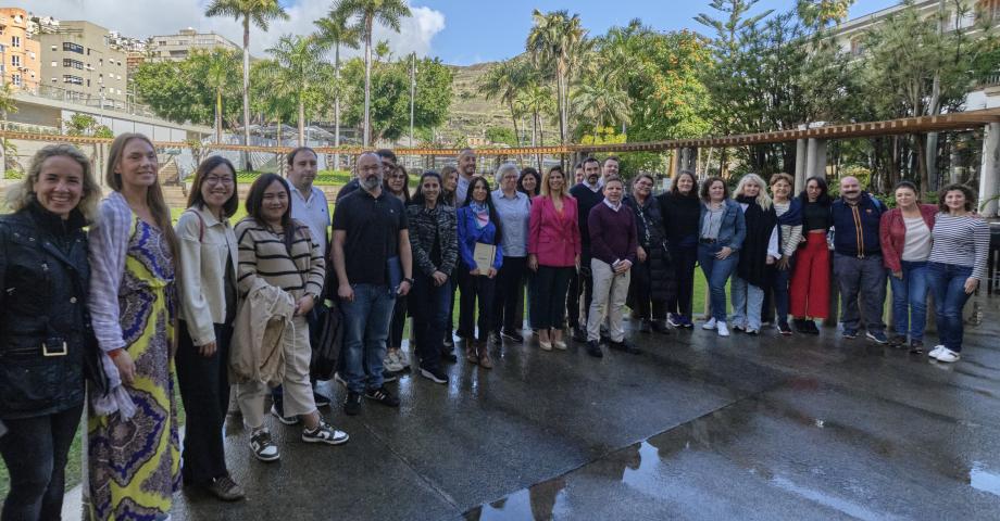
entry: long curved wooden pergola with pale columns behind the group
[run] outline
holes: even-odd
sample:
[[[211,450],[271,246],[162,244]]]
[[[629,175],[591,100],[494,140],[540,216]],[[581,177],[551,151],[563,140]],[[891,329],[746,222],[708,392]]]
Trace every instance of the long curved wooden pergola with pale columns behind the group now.
[[[677,150],[674,154],[672,170],[682,168],[693,169],[697,150],[700,148],[727,148],[746,147],[752,144],[779,143],[796,141],[796,191],[801,190],[804,180],[809,177],[826,171],[826,145],[834,139],[868,138],[876,136],[899,136],[910,134],[960,131],[985,128],[983,142],[983,164],[979,175],[979,200],[987,201],[980,208],[980,214],[988,217],[997,216],[997,196],[1000,194],[1000,109],[980,111],[957,112],[938,116],[904,117],[883,122],[848,123],[840,125],[825,125],[815,128],[801,128],[796,130],[782,130],[774,132],[745,134],[737,136],[707,137],[698,139],[672,139],[665,141],[648,141],[641,143],[615,144],[565,144],[555,147],[521,147],[521,148],[480,148],[476,149],[477,155],[560,155],[573,153],[616,153],[616,152],[663,152]],[[110,139],[54,136],[40,134],[25,134],[0,131],[0,137],[8,139],[40,140],[70,142],[76,144],[103,145]],[[163,148],[191,148],[185,142],[155,142]],[[241,144],[202,144],[203,150],[232,150],[267,153],[284,153],[290,147],[248,147]],[[316,152],[321,154],[359,154],[365,150],[361,147],[321,147]],[[421,156],[448,156],[458,155],[460,149],[425,149],[405,148],[396,149],[398,155]]]

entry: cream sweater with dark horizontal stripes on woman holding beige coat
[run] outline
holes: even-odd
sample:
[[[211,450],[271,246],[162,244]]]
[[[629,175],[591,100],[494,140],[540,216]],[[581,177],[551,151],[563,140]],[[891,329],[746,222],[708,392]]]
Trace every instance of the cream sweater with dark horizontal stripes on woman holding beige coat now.
[[[295,223],[298,228],[290,251],[285,249],[280,229],[264,228],[252,217],[236,224],[239,243],[236,280],[240,294],[250,291],[258,277],[287,291],[296,301],[305,293],[322,294],[326,274],[323,252],[313,243],[309,227]]]

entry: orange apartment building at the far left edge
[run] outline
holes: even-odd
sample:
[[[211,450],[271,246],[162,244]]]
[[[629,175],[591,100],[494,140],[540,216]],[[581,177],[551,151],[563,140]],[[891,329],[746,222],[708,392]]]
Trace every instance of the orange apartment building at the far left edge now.
[[[33,25],[25,10],[0,8],[0,77],[14,89],[37,89],[41,80],[41,52]]]

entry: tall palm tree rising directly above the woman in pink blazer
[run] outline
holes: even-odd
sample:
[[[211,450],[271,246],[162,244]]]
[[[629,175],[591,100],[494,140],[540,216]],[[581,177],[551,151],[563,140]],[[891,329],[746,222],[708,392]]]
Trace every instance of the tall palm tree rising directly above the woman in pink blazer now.
[[[570,16],[566,10],[532,13],[535,26],[528,34],[525,47],[536,64],[555,68],[555,97],[559,105],[559,137],[566,142],[570,103],[568,90],[573,67],[586,43],[587,31],[580,26],[578,14]]]

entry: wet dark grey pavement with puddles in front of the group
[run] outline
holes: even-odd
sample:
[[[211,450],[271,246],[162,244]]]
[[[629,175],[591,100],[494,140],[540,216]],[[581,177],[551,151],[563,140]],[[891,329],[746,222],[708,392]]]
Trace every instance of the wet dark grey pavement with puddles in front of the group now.
[[[249,499],[185,490],[174,519],[998,519],[1000,298],[980,302],[954,365],[698,323],[602,359],[504,343],[491,371],[389,384],[399,410],[347,417],[329,382],[347,445],[268,418],[282,459],[262,463],[233,428]]]

